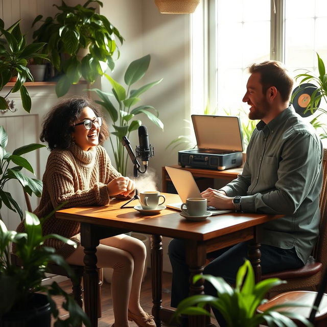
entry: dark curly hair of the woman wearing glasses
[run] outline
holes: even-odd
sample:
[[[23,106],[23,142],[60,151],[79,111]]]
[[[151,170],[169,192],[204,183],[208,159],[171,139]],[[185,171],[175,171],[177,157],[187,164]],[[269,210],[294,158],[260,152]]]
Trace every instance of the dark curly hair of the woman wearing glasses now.
[[[108,126],[100,109],[87,98],[66,98],[55,104],[43,119],[41,142],[48,143],[50,150],[68,149],[73,143],[71,135],[74,131],[73,125],[85,107],[91,108],[97,117],[102,118],[99,144],[103,144],[109,137]]]

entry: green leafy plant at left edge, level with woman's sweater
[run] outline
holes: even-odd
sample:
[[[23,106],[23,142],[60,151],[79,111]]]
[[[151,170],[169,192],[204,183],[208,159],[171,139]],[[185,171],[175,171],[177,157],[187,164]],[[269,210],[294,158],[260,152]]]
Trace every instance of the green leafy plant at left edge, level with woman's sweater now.
[[[14,200],[9,192],[4,191],[4,186],[9,180],[15,179],[22,185],[24,191],[29,195],[34,193],[37,197],[40,197],[42,193],[42,181],[30,178],[21,171],[25,168],[34,174],[31,164],[28,160],[22,157],[22,155],[45,146],[32,143],[15,149],[11,154],[6,150],[7,143],[8,135],[4,127],[0,126],[0,207],[2,207],[3,204],[6,205],[10,210],[17,212],[20,220],[22,220],[23,213],[19,204]],[[9,168],[10,164],[14,164],[15,166]],[[0,215],[0,220],[1,219]]]

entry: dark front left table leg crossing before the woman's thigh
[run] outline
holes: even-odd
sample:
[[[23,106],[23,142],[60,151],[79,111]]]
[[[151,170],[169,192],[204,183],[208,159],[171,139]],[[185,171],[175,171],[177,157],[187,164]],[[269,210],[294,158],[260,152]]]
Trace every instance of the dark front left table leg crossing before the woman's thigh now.
[[[84,247],[84,310],[90,319],[91,327],[98,327],[98,292],[99,275],[97,270],[97,246],[99,238],[96,237],[90,224],[81,223],[81,244]]]

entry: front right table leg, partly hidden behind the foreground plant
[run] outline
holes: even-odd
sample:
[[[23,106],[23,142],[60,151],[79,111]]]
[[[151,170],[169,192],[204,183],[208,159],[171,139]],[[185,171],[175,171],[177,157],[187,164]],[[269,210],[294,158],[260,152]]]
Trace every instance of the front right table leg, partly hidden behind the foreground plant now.
[[[190,295],[204,294],[204,280],[193,284],[193,276],[202,274],[206,260],[206,249],[203,242],[185,241],[186,262],[190,267]],[[189,316],[190,327],[205,326],[205,316]]]

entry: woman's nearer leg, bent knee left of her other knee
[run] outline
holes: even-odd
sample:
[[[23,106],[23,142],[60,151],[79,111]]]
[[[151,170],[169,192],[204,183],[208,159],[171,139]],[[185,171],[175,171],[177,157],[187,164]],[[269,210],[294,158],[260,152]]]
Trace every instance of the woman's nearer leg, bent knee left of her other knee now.
[[[119,242],[121,238],[116,240]],[[132,286],[134,260],[131,254],[118,247],[100,244],[97,247],[97,266],[113,268],[111,296],[115,327],[127,327],[127,310]],[[73,265],[84,265],[84,248],[79,246],[66,261]]]

